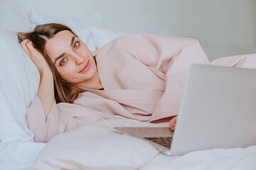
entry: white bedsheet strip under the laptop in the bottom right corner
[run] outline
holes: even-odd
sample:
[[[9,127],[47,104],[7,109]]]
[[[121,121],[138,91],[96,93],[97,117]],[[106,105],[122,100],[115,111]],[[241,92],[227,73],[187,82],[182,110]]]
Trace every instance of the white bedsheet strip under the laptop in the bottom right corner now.
[[[256,146],[234,149],[209,149],[179,157],[157,155],[141,170],[153,169],[256,169]]]

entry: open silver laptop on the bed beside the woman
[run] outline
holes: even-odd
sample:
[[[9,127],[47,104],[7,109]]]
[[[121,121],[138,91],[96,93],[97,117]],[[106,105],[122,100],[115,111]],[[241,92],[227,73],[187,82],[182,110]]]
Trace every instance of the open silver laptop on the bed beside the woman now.
[[[176,128],[119,127],[167,155],[256,145],[256,69],[192,64]]]

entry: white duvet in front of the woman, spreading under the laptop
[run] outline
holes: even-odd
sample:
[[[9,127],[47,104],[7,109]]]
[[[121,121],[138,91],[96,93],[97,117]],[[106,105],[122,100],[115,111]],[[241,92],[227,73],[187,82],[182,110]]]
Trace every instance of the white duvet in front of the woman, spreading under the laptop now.
[[[178,157],[160,154],[144,140],[112,127],[163,127],[168,123],[102,120],[58,135],[39,154],[36,169],[256,169],[256,146],[209,149]]]

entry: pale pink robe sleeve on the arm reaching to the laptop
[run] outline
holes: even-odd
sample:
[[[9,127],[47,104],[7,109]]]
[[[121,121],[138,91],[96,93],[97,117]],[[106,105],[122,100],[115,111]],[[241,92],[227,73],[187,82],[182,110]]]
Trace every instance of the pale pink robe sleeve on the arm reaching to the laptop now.
[[[151,34],[132,35],[129,40],[139,45],[135,47],[123,40],[124,49],[166,82],[164,94],[156,103],[150,121],[177,115],[189,66],[209,64],[198,40]]]

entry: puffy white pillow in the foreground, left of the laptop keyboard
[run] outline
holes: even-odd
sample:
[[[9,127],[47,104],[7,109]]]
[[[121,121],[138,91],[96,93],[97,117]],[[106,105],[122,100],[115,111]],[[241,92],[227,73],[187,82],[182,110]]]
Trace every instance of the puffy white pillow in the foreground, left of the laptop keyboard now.
[[[120,124],[117,122],[134,124],[126,120],[102,120],[54,137],[32,169],[139,169],[159,152],[149,142],[122,135],[110,127]]]

